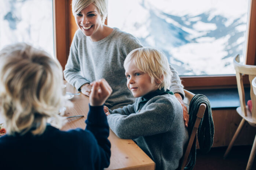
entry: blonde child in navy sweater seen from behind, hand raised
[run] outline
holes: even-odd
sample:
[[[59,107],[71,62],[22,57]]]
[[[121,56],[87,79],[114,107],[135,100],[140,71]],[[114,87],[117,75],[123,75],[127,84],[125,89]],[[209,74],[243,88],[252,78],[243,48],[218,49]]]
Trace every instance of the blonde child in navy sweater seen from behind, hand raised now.
[[[109,126],[103,104],[112,89],[105,79],[91,83],[85,129],[61,131],[62,67],[48,53],[25,43],[0,50],[0,169],[103,170],[110,164]],[[83,113],[82,113],[83,114]]]

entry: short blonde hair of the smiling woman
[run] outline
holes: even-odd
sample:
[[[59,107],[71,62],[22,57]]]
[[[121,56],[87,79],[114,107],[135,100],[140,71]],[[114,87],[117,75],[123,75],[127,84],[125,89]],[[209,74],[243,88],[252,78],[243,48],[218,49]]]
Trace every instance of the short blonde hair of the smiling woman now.
[[[84,8],[93,3],[100,12],[101,21],[104,24],[107,17],[107,0],[72,0],[72,13],[77,15]]]

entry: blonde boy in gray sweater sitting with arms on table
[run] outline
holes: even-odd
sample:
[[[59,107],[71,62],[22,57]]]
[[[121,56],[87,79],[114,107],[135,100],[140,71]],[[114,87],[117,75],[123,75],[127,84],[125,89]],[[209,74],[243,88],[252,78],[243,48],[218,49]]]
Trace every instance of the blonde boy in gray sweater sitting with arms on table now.
[[[167,57],[153,48],[138,48],[128,54],[124,68],[127,87],[136,100],[109,112],[105,107],[110,128],[120,138],[133,139],[156,163],[156,170],[177,169],[188,133],[182,106],[168,90]]]

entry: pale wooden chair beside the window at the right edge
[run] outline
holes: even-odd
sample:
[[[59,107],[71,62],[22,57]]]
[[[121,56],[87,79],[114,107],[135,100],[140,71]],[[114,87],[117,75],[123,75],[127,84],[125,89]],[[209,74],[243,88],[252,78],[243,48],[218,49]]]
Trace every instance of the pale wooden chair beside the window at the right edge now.
[[[241,131],[245,121],[247,121],[251,126],[256,127],[256,98],[255,94],[253,93],[252,88],[252,80],[256,76],[256,66],[255,65],[245,65],[240,63],[240,57],[237,55],[234,58],[234,67],[235,67],[235,76],[237,78],[237,88],[238,88],[238,94],[240,99],[240,107],[237,107],[237,113],[242,117],[242,121],[240,122],[237,131],[235,132],[232,140],[230,141],[230,144],[228,145],[228,148],[224,154],[224,159],[226,158],[228,152],[230,151],[231,147],[234,144],[235,139],[237,138],[239,132]],[[248,106],[245,104],[245,92],[244,92],[244,84],[243,84],[243,77],[242,74],[249,75],[249,81],[250,81],[250,98],[252,100],[252,112],[248,109]],[[252,150],[250,152],[250,157],[246,166],[246,170],[250,170],[252,168],[252,163],[255,157],[256,153],[256,136],[253,142]]]

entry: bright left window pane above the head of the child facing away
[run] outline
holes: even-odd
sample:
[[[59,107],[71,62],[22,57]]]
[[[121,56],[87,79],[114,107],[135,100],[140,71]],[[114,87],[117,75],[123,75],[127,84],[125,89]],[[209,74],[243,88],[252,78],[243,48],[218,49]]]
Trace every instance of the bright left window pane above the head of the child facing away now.
[[[54,56],[52,0],[0,1],[0,49],[26,42]]]

